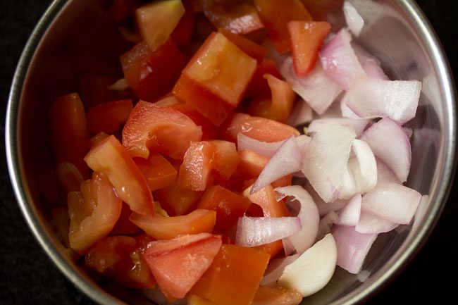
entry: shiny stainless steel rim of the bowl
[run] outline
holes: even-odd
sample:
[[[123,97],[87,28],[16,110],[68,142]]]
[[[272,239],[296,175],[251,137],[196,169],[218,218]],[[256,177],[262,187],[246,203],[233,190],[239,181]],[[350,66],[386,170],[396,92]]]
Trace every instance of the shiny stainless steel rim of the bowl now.
[[[332,305],[337,304],[357,304],[365,299],[368,299],[376,291],[380,290],[383,286],[388,285],[388,282],[399,274],[407,263],[414,258],[414,255],[421,249],[426,239],[433,231],[435,223],[438,221],[440,213],[445,206],[447,195],[450,192],[452,185],[452,178],[455,169],[455,149],[457,140],[457,121],[456,121],[456,106],[455,96],[456,91],[454,87],[454,81],[452,73],[450,72],[450,66],[448,64],[445,53],[440,45],[438,37],[435,35],[430,23],[423,15],[419,7],[411,0],[395,0],[397,6],[399,6],[404,13],[409,17],[409,21],[413,23],[416,30],[424,43],[428,55],[431,57],[433,67],[438,73],[438,80],[440,89],[442,91],[442,98],[447,105],[449,111],[446,113],[446,129],[443,130],[445,133],[445,141],[448,142],[445,151],[445,160],[443,161],[442,173],[440,175],[440,182],[438,182],[438,189],[435,194],[431,194],[434,198],[432,203],[432,211],[428,214],[425,219],[425,223],[419,230],[419,234],[414,237],[412,242],[408,245],[404,244],[405,249],[398,249],[396,254],[390,259],[392,263],[385,263],[385,266],[377,271],[375,280],[373,280],[369,286],[361,285],[357,289],[353,290],[349,294],[345,295],[338,301],[334,301]],[[11,178],[11,185],[16,194],[16,199],[20,206],[20,210],[32,231],[33,235],[42,246],[44,251],[47,253],[49,258],[56,264],[61,272],[66,275],[70,282],[78,287],[82,292],[87,294],[91,299],[97,301],[99,304],[125,304],[123,301],[116,299],[111,296],[100,287],[93,285],[92,282],[88,282],[86,278],[83,278],[73,266],[65,259],[62,254],[57,251],[47,236],[47,233],[42,228],[42,225],[35,214],[34,208],[31,204],[31,199],[27,194],[27,185],[22,178],[22,168],[20,165],[19,149],[18,149],[18,111],[22,88],[24,85],[25,75],[30,66],[32,57],[35,53],[35,49],[39,45],[44,33],[47,31],[49,25],[51,25],[54,17],[58,15],[59,11],[66,5],[66,0],[54,0],[47,11],[44,12],[42,18],[40,18],[35,29],[30,35],[27,44],[20,56],[16,73],[13,76],[13,82],[11,85],[11,92],[8,97],[8,108],[6,111],[6,127],[5,127],[5,139],[6,139],[6,159],[8,163],[8,171]],[[378,276],[377,276],[378,275]]]

